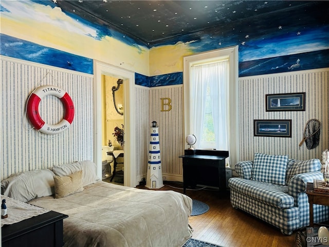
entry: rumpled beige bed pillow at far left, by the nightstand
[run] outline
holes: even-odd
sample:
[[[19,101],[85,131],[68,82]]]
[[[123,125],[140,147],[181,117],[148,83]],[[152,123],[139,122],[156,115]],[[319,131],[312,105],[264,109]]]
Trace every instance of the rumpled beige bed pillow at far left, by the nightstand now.
[[[54,194],[54,173],[49,169],[12,174],[1,182],[3,195],[21,202]]]

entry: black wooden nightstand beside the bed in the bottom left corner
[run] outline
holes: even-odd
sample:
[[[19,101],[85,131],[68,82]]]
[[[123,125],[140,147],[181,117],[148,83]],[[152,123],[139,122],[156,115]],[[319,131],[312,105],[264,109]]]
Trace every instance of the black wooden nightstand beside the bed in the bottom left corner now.
[[[67,217],[49,211],[11,225],[4,225],[1,227],[2,246],[62,247],[63,219]]]

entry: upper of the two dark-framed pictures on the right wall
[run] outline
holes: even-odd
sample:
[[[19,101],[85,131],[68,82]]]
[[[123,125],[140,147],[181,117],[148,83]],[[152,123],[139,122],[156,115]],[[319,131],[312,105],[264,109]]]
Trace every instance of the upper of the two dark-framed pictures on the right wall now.
[[[266,111],[305,111],[305,93],[267,94]]]

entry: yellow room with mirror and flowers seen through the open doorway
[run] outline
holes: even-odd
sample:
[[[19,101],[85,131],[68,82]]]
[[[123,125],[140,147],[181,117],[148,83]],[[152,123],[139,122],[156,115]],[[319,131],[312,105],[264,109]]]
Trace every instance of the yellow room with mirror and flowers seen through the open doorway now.
[[[123,92],[122,79],[102,75],[102,180],[119,185],[123,185],[124,182],[124,143],[120,135],[123,133],[124,120]],[[115,130],[119,130],[117,138],[114,135]],[[117,165],[114,172],[115,162]]]

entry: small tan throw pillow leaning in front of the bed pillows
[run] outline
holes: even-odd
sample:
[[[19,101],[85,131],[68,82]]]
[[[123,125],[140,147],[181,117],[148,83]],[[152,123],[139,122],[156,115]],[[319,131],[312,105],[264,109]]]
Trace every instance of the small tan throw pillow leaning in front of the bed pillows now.
[[[55,198],[62,198],[81,192],[82,187],[82,170],[72,173],[65,177],[54,175]]]

